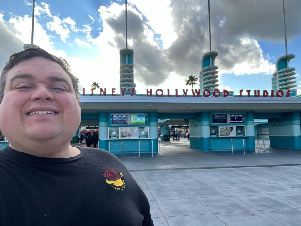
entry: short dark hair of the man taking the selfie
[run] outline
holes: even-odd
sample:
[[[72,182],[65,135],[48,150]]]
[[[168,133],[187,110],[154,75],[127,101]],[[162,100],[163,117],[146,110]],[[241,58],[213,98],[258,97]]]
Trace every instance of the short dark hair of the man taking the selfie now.
[[[43,57],[47,60],[51,60],[51,61],[59,64],[61,67],[63,67],[64,71],[66,71],[66,73],[70,76],[70,78],[72,80],[72,85],[73,85],[73,88],[75,91],[75,96],[76,96],[77,101],[79,102],[80,93],[78,91],[77,79],[73,74],[71,74],[70,65],[68,64],[68,62],[64,58],[58,58],[58,57],[46,52],[44,49],[28,48],[28,49],[24,49],[21,52],[17,52],[17,53],[14,53],[13,55],[11,55],[9,57],[9,60],[5,64],[5,66],[1,72],[1,75],[0,75],[0,103],[3,100],[6,76],[7,76],[8,71],[11,70],[11,68],[13,68],[20,61],[30,59],[33,57]]]

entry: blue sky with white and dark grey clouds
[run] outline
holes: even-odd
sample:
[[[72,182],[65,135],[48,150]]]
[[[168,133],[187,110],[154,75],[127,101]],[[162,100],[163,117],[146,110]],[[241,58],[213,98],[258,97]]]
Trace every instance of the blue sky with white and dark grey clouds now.
[[[209,52],[207,0],[129,0],[128,48],[134,50],[137,94],[190,89]],[[125,48],[124,0],[36,0],[33,43],[67,59],[80,87],[119,89],[119,49]],[[301,1],[285,0],[288,54],[296,56],[301,94]],[[219,88],[271,90],[277,59],[285,55],[282,0],[211,0],[212,51]],[[0,67],[31,42],[32,1],[0,3]],[[174,92],[172,92],[174,93]]]

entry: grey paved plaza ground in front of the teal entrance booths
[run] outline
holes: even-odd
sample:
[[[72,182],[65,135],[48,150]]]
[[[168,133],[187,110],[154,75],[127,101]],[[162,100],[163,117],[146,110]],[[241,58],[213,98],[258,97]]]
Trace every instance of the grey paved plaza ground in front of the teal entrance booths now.
[[[183,139],[162,142],[154,157],[117,157],[147,195],[155,226],[300,226],[301,150],[268,153],[200,152]]]

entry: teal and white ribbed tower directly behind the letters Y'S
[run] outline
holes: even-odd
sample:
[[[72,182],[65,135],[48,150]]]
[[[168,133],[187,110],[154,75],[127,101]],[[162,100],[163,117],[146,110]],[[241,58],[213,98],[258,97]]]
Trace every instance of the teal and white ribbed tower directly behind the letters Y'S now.
[[[130,96],[132,89],[136,87],[134,83],[134,50],[120,49],[120,89],[125,90],[124,96]],[[134,96],[136,96],[134,91]],[[120,90],[120,95],[121,95]]]

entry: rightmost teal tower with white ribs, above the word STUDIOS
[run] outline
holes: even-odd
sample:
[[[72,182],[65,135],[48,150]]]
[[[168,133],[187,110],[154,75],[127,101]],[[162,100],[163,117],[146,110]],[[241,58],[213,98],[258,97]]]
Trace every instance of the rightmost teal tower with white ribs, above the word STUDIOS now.
[[[289,62],[293,58],[295,58],[295,55],[293,54],[284,55],[278,58],[276,63],[276,72],[272,77],[272,89],[274,90],[274,93],[276,93],[277,90],[286,92],[290,89],[290,96],[297,95],[297,90],[292,89],[296,87],[294,84],[296,81],[293,80],[296,79],[296,68],[289,67]]]

